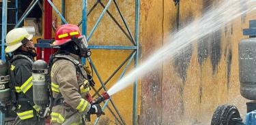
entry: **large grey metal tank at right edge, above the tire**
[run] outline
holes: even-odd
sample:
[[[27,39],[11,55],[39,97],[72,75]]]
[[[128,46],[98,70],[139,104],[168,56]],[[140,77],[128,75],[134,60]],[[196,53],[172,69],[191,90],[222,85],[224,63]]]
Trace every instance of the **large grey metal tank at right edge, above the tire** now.
[[[242,39],[238,46],[240,93],[256,100],[256,38]]]

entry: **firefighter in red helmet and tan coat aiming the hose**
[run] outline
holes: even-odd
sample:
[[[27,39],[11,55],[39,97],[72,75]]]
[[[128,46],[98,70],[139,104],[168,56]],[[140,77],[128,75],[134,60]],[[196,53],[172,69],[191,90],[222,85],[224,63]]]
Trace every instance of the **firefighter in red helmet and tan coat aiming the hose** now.
[[[55,33],[53,46],[60,49],[51,57],[51,90],[54,98],[51,123],[85,124],[83,116],[102,114],[100,105],[91,105],[86,98],[89,82],[86,71],[79,63],[81,57],[90,55],[85,37],[78,26],[63,24]]]

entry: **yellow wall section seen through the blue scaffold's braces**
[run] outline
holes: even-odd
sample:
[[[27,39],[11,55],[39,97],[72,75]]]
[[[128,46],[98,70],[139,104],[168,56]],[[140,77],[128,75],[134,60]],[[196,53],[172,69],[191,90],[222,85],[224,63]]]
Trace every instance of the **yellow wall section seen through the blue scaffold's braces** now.
[[[96,1],[88,1],[88,8]],[[106,1],[102,1],[104,5],[106,5]],[[61,1],[53,0],[53,3],[57,6],[59,10],[61,10]],[[128,25],[130,26],[130,30],[134,33],[134,1],[117,1],[119,4],[120,10],[124,14]],[[100,12],[102,12],[102,7],[100,4],[97,5],[95,10],[91,12],[88,16],[88,23],[87,23],[87,34],[91,31],[92,27],[94,26],[96,20],[100,16]],[[119,16],[117,10],[115,9],[114,3],[111,3],[109,7],[109,11],[118,22],[123,26],[125,29],[124,24],[122,23],[121,17]],[[56,12],[53,12],[53,17],[57,16]],[[78,24],[81,21],[82,17],[82,0],[68,0],[66,1],[66,19],[69,23]],[[58,18],[58,26],[60,25],[60,18]],[[98,28],[94,35],[92,35],[91,39],[89,40],[89,44],[93,45],[123,45],[123,46],[131,46],[132,43],[126,38],[124,33],[118,28],[118,26],[111,20],[110,16],[105,14],[102,18]],[[103,82],[115,71],[115,69],[122,64],[122,62],[128,57],[128,55],[132,51],[130,50],[92,50],[92,60],[100,73],[100,77],[103,79]],[[129,70],[133,67],[134,62],[132,61]],[[124,69],[124,68],[122,68]],[[122,73],[121,71],[117,72],[117,74],[113,77],[113,79],[106,85],[106,88],[110,88],[113,84],[119,79],[119,76]],[[94,73],[95,74],[95,73]],[[100,82],[96,75],[94,75],[94,80],[96,82],[96,88],[100,87]],[[102,93],[102,91],[100,92]],[[94,91],[91,90],[91,94],[94,94]],[[126,124],[132,124],[132,86],[126,88],[122,92],[118,92],[117,94],[113,95],[112,97],[113,102],[119,109],[119,112],[122,114]],[[111,109],[111,103],[109,103]],[[115,111],[114,111],[115,112]],[[109,120],[110,124],[115,124],[115,118],[109,112],[108,109],[105,110],[106,115],[101,118],[100,124],[106,124]],[[116,114],[116,113],[115,113]],[[117,115],[117,114],[116,114]],[[94,123],[92,120],[91,124]]]

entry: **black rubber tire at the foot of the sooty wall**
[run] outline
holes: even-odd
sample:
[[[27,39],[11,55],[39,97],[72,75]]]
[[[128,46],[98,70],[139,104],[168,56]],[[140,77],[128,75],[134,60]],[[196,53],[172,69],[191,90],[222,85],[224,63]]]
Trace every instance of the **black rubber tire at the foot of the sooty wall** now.
[[[242,120],[238,108],[235,105],[220,105],[212,115],[211,125],[236,124],[231,120],[232,118],[238,118]]]

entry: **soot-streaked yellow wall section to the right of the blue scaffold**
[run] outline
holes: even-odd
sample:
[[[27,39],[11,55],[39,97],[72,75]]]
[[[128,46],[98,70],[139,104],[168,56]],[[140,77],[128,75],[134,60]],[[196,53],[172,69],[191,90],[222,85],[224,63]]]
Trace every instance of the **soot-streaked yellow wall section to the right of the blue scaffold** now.
[[[212,3],[216,7],[216,1],[181,0],[180,26],[200,18],[203,8]],[[141,0],[143,57],[167,45],[169,41],[164,39],[176,29],[176,9],[173,1]],[[245,22],[233,20],[203,43],[190,45],[191,51],[165,60],[143,77],[139,122],[210,124],[216,107],[226,103],[235,104],[244,118],[246,99],[240,95],[238,43],[244,37],[242,29],[254,18],[247,14]]]

